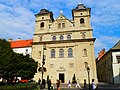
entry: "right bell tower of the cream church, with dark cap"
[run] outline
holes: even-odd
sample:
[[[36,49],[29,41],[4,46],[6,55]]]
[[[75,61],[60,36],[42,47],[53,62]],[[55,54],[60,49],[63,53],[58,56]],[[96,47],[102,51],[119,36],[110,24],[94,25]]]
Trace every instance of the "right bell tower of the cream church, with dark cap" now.
[[[72,10],[72,17],[75,27],[90,27],[90,8],[79,3],[75,9]]]

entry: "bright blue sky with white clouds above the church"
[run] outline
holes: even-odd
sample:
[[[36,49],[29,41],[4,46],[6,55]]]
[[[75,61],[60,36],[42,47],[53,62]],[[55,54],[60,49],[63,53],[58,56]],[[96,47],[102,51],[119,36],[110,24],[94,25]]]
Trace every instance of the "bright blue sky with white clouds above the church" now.
[[[108,51],[120,40],[120,0],[0,0],[0,38],[32,39],[35,14],[41,9],[52,11],[54,19],[62,10],[72,20],[78,3],[91,8],[95,56],[103,48]]]

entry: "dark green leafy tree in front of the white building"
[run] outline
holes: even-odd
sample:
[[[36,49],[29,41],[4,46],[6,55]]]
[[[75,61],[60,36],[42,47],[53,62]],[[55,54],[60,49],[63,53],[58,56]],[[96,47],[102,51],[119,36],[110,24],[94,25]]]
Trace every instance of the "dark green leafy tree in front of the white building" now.
[[[31,79],[37,72],[37,62],[28,55],[13,52],[9,42],[0,39],[0,75],[5,78]]]

